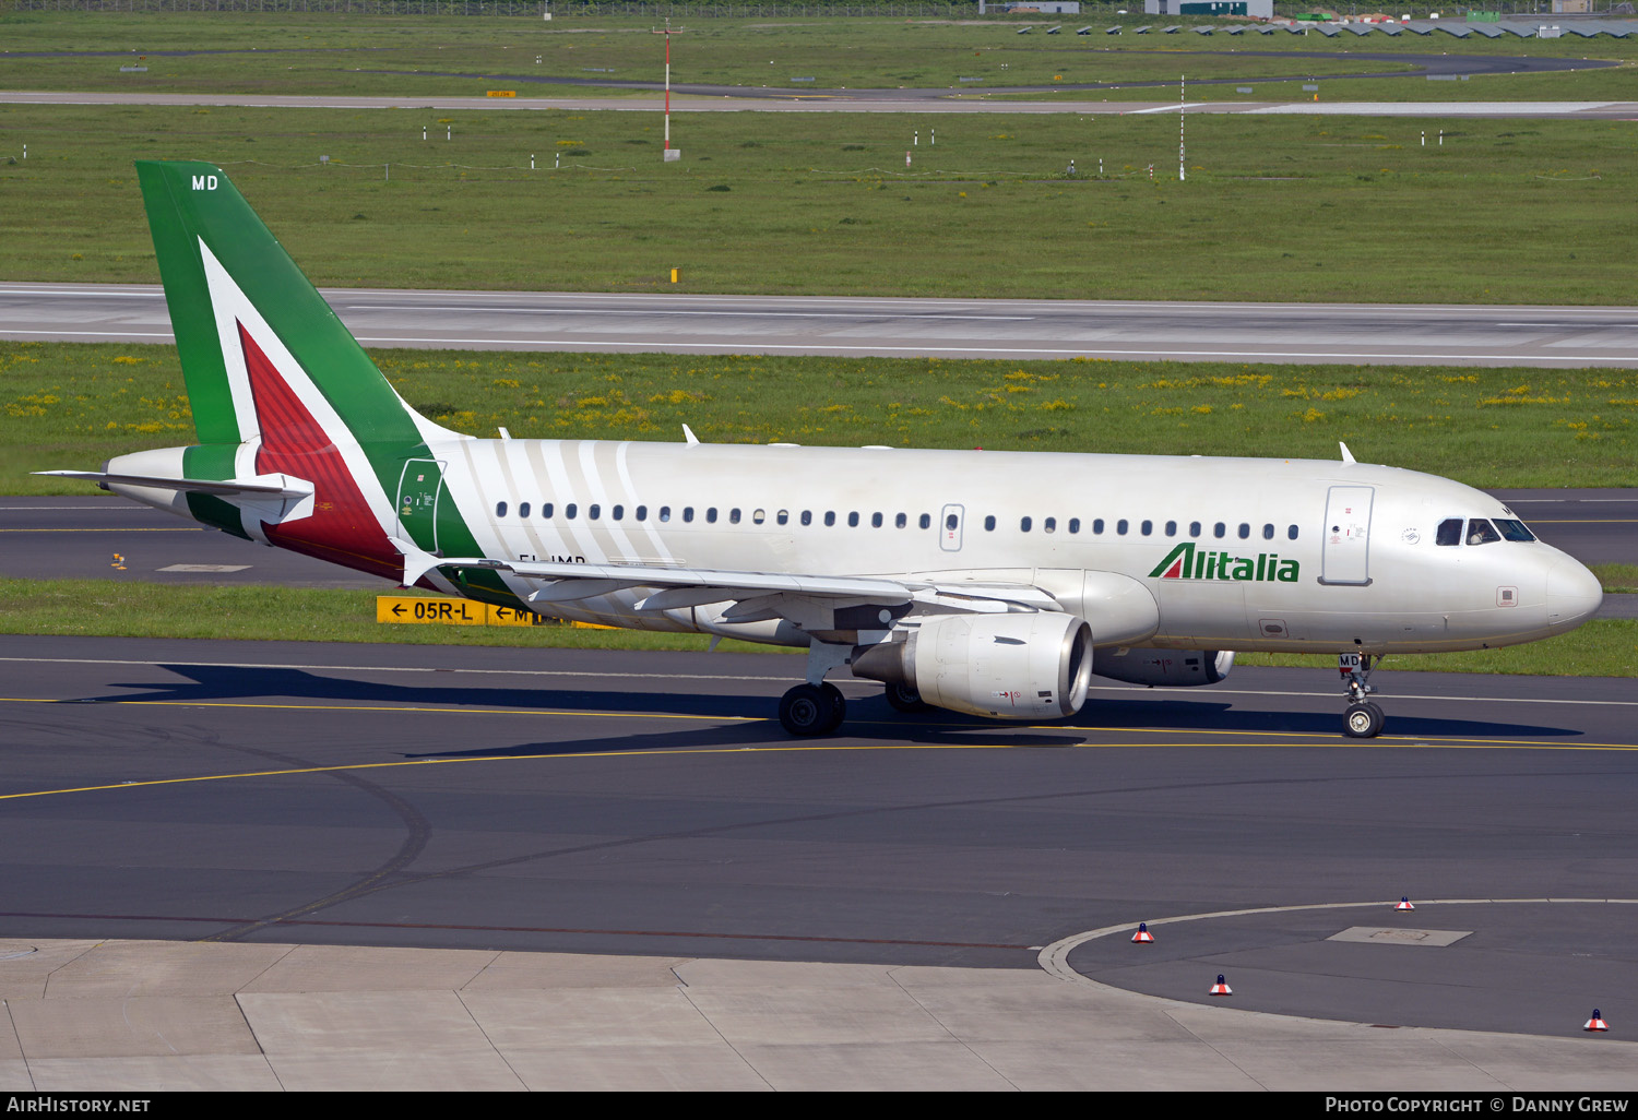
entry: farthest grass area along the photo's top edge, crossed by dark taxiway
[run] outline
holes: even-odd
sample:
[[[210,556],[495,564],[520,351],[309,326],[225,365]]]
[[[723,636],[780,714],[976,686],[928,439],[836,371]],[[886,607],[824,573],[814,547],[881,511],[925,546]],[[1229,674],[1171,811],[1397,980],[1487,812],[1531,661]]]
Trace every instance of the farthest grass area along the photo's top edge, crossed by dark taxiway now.
[[[1073,16],[1071,16],[1073,20]],[[1114,23],[1156,23],[1088,16],[1091,36],[1043,34],[1053,20],[948,21],[906,18],[683,20],[673,39],[673,82],[770,88],[983,88],[1073,85],[1078,82],[1174,82],[1228,77],[1248,82],[1410,69],[1363,54],[1471,54],[1481,57],[1597,57],[1631,62],[1628,39],[1453,39],[1446,34],[1353,34],[1325,38],[1240,34],[1120,34]],[[1158,23],[1179,23],[1160,20]],[[1202,23],[1188,20],[1183,23]],[[503,85],[519,95],[563,93],[545,79],[645,80],[663,77],[663,47],[650,34],[657,20],[560,13],[552,23],[459,16],[306,15],[0,15],[11,57],[0,56],[0,87],[16,90],[147,90],[211,93],[424,93],[483,95]],[[1070,29],[1073,31],[1073,23]],[[108,57],[95,52],[133,57]],[[175,56],[165,51],[226,51]],[[18,57],[23,52],[72,52]],[[1314,56],[1314,57],[1299,57]],[[120,64],[146,74],[121,74]],[[804,77],[812,82],[794,82]],[[962,79],[978,79],[962,82]],[[1548,80],[1551,77],[1551,80]],[[506,79],[498,82],[498,79]],[[1625,70],[1625,88],[1631,88]],[[1622,97],[1620,79],[1569,75],[1486,75],[1473,82],[1374,80],[1373,98],[1463,100]],[[1553,90],[1551,93],[1546,90]],[[600,92],[586,87],[585,92]],[[621,95],[621,90],[601,90]],[[1273,100],[1307,100],[1299,85],[1260,90]],[[1355,97],[1356,93],[1346,93]],[[1197,97],[1233,97],[1199,87]],[[1327,84],[1325,97],[1333,97]]]

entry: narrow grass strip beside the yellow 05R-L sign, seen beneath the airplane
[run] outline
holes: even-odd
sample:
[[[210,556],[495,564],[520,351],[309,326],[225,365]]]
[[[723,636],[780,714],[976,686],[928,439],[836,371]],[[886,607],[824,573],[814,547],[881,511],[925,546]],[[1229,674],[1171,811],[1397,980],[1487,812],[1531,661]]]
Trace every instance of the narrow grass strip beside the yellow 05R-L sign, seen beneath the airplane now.
[[[391,593],[382,585],[383,593]],[[704,650],[698,634],[586,630],[570,625],[467,627],[380,625],[373,591],[313,588],[169,586],[115,580],[0,578],[0,634],[97,637],[241,639],[277,642],[396,642],[413,645],[508,645],[519,648]],[[722,642],[731,652],[790,653]],[[1337,658],[1243,653],[1240,665],[1292,665],[1335,671]],[[1638,622],[1604,619],[1571,634],[1500,650],[1392,657],[1391,670],[1440,673],[1528,673],[1545,676],[1638,676]],[[793,675],[798,668],[790,670]]]

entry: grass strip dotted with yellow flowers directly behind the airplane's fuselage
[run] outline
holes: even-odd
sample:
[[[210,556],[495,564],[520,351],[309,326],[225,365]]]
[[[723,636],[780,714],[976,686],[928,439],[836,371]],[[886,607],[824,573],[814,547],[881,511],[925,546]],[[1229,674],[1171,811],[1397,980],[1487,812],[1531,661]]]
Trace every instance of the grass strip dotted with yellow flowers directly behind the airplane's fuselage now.
[[[1638,485],[1638,372],[377,350],[442,424],[493,436],[1337,458],[1476,486]],[[0,493],[193,442],[174,347],[0,342]]]

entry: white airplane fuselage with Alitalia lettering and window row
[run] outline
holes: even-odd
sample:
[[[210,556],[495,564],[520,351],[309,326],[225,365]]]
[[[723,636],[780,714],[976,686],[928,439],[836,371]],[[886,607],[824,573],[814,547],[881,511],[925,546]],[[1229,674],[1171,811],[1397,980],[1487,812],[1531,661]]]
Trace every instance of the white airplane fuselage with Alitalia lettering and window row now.
[[[532,439],[429,452],[382,511],[396,535],[459,511],[482,555],[505,560],[1035,586],[1084,617],[1101,648],[1484,648],[1566,632],[1602,598],[1540,540],[1437,544],[1450,519],[1510,519],[1495,498],[1353,462]],[[152,473],[167,454],[110,468]],[[113,488],[187,513],[175,491]],[[244,527],[262,537],[257,517]],[[539,586],[503,578],[519,598]],[[636,609],[645,594],[531,606],[809,642],[717,604]]]

